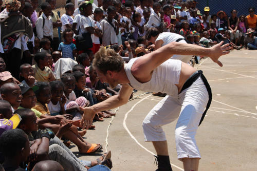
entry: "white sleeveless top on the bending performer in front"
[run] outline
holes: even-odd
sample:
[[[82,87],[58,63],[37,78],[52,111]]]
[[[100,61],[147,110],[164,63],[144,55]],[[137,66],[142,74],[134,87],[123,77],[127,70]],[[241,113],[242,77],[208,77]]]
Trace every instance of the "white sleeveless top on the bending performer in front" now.
[[[133,58],[124,65],[127,78],[130,80],[130,85],[134,89],[146,92],[162,92],[170,96],[178,94],[175,84],[179,83],[181,71],[180,60],[168,59],[153,70],[150,81],[141,83],[131,73],[131,67],[137,59]]]

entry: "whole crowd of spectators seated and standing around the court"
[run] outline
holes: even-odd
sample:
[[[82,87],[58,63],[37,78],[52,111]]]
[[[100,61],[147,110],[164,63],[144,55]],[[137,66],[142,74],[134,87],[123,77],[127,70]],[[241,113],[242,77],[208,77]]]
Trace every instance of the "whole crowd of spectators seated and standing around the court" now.
[[[67,148],[71,141],[81,154],[102,149],[85,141],[86,130],[79,128],[84,107],[119,93],[120,85],[111,89],[90,66],[100,46],[128,62],[154,50],[146,32],[155,28],[158,35],[177,33],[188,44],[210,47],[224,41],[237,50],[257,49],[253,7],[247,16],[237,16],[235,9],[211,15],[209,7],[201,14],[191,0],[79,0],[76,5],[67,1],[60,16],[56,0],[38,5],[38,0],[6,0],[0,9],[0,162],[5,170],[112,168],[111,152],[81,161]],[[98,112],[95,120],[113,115]]]

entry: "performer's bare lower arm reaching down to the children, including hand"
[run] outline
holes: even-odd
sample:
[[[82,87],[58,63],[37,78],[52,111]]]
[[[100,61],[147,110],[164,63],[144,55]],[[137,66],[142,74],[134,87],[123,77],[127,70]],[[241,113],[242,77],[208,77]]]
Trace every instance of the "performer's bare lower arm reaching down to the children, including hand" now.
[[[128,99],[130,99],[132,92],[132,87],[128,86],[128,84],[123,84],[120,89],[119,95],[112,96],[88,108],[80,107],[80,110],[84,111],[83,117],[80,122],[80,127],[82,127],[83,129],[86,127],[86,129],[88,129],[89,126],[93,123],[93,118],[95,117],[95,114],[97,112],[114,109],[118,106],[126,104]]]

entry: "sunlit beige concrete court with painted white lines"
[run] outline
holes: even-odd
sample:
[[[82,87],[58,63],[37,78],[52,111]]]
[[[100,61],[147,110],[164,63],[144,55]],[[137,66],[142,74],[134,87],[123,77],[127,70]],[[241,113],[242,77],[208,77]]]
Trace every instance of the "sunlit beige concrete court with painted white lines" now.
[[[256,170],[257,51],[234,50],[220,60],[222,68],[209,58],[195,66],[204,71],[213,94],[211,107],[196,135],[202,156],[199,170]],[[143,93],[135,93],[134,97],[141,96],[121,106],[114,118],[95,122],[96,129],[87,131],[84,136],[88,142],[103,144],[104,152],[108,143],[107,150],[112,151],[112,170],[157,168],[154,147],[151,142],[144,142],[141,124],[162,98]],[[172,168],[176,171],[183,170],[183,165],[177,160],[175,124],[176,121],[163,129]],[[72,151],[82,160],[93,160],[100,155],[79,155],[77,147],[72,147]]]

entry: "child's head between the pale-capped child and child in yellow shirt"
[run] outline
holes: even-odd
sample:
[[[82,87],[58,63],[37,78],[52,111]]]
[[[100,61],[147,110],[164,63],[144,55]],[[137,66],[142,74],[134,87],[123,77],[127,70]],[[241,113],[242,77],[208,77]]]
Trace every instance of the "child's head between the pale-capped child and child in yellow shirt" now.
[[[32,87],[35,84],[34,70],[28,63],[24,63],[20,67],[20,76],[24,78],[21,82],[21,86]]]

